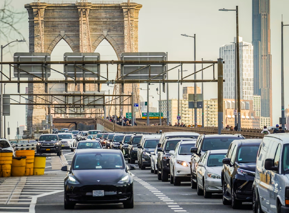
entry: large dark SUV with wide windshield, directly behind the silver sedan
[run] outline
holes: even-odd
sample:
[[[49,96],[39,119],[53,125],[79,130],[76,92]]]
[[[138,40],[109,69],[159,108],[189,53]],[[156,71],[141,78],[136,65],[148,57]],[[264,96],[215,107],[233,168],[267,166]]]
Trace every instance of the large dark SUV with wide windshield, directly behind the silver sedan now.
[[[201,134],[196,147],[191,148],[191,188],[197,188],[196,168],[200,158],[208,150],[227,150],[234,140],[245,139],[240,134]]]

